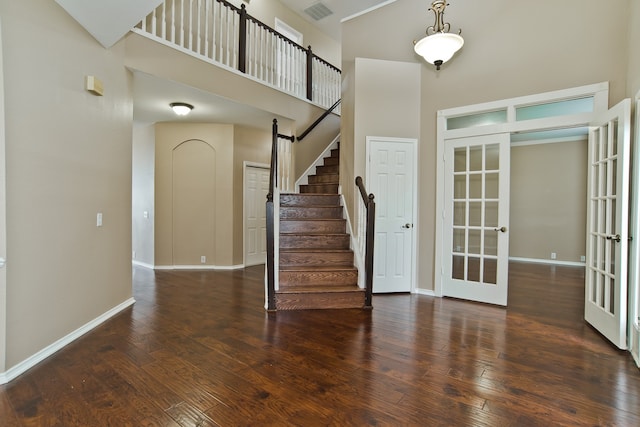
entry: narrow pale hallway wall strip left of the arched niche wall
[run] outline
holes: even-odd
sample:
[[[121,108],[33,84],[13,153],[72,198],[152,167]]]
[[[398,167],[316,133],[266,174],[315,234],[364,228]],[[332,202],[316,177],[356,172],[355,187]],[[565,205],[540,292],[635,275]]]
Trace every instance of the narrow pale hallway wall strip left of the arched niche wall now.
[[[155,218],[155,127],[134,123],[132,171],[131,248],[133,259],[147,266],[154,264]],[[146,212],[146,217],[145,217]]]

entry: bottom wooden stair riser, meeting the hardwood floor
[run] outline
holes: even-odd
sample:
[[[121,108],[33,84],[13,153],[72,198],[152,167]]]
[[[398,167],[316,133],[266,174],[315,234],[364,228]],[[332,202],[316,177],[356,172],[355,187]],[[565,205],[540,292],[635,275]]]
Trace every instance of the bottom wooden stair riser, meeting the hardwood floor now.
[[[276,294],[277,310],[304,310],[328,308],[363,308],[364,293]]]

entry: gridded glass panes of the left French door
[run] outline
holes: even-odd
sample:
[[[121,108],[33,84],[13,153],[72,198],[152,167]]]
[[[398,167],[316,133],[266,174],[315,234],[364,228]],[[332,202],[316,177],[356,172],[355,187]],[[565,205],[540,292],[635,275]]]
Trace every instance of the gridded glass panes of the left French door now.
[[[497,283],[499,144],[454,149],[451,278]]]

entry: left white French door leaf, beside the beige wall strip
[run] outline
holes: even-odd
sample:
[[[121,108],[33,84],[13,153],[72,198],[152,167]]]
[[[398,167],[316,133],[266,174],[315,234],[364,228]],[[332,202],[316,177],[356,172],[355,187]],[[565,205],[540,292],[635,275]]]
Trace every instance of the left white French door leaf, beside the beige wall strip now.
[[[444,296],[507,305],[509,134],[445,141]]]

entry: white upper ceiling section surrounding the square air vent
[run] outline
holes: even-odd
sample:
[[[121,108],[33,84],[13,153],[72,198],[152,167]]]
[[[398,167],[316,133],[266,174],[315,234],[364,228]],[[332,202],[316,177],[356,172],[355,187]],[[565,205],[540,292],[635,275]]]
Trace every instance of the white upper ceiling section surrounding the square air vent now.
[[[302,16],[315,27],[322,30],[323,33],[331,38],[340,41],[342,33],[340,21],[353,15],[357,15],[363,11],[376,7],[382,3],[388,3],[388,0],[280,0],[289,9]],[[333,14],[322,18],[318,21],[311,18],[305,10],[311,6],[322,3]]]

